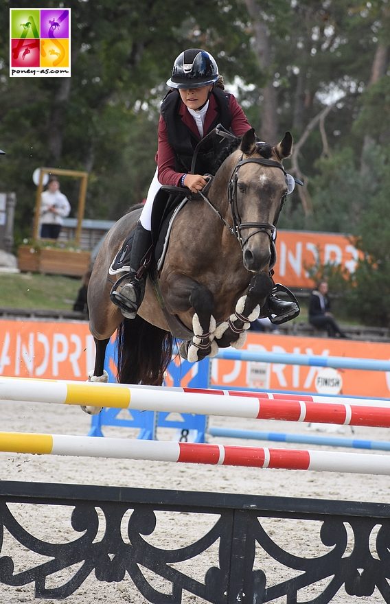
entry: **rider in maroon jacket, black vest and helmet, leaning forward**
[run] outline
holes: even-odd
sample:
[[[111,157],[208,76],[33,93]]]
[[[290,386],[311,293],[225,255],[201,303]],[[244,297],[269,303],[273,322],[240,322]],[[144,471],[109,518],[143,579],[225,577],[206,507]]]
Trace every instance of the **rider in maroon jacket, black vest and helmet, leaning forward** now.
[[[111,301],[128,318],[135,317],[144,298],[145,275],[140,277],[137,273],[152,243],[152,205],[161,185],[187,187],[197,193],[207,184],[203,174],[212,171],[215,159],[214,148],[200,150],[196,167],[202,173],[188,174],[200,139],[217,124],[222,124],[237,137],[251,129],[236,98],[224,91],[222,76],[218,74],[216,61],[209,52],[190,48],[179,54],[167,85],[171,90],[161,104],[157,170],[135,229],[130,272],[114,284],[110,294]],[[296,316],[299,310],[295,302],[280,300],[274,294],[268,297],[267,303],[268,309],[276,315],[275,322],[286,321],[289,316]]]

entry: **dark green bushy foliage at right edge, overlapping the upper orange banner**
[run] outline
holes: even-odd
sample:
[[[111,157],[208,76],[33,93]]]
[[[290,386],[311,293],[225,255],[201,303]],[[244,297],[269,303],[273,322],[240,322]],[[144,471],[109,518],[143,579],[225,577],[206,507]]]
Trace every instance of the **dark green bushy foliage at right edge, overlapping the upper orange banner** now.
[[[334,158],[333,158],[334,159]],[[330,198],[316,198],[317,205],[323,202],[321,224],[325,222],[326,212],[336,204],[337,191],[343,204],[336,205],[336,216],[340,217],[345,231],[354,233],[357,237],[356,247],[362,252],[356,271],[350,275],[347,271],[335,266],[317,266],[310,270],[312,278],[327,278],[330,290],[342,296],[342,310],[345,316],[362,321],[366,325],[388,327],[390,325],[390,216],[389,196],[390,146],[379,147],[372,145],[367,148],[364,161],[367,173],[360,173],[351,162],[352,152],[345,155],[345,165],[326,161],[322,171],[323,177],[334,178],[334,186],[329,187]],[[345,167],[349,166],[347,177]],[[345,181],[344,181],[345,175]],[[350,187],[350,188],[349,188]],[[349,191],[348,191],[349,189]],[[332,196],[333,191],[333,196]],[[353,207],[353,214],[347,213],[346,200]],[[350,217],[349,229],[347,222]],[[352,218],[353,216],[353,218]],[[334,222],[336,226],[336,222]],[[337,230],[337,229],[335,229]]]

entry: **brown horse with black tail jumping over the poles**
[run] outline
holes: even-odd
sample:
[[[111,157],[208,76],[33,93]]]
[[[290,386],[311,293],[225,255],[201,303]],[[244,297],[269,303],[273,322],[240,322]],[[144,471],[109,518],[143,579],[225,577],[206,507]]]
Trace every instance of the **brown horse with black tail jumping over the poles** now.
[[[139,207],[111,227],[88,286],[96,346],[90,380],[107,381],[104,355],[115,330],[117,379],[128,384],[161,385],[175,338],[183,339],[180,353],[190,361],[243,345],[245,330],[273,289],[275,223],[287,192],[282,160],[291,149],[290,132],[269,146],[256,143],[251,129],[225,152],[210,183],[177,213],[163,266],[157,270],[154,263],[148,271],[133,319],[124,318],[110,300],[117,276],[111,278],[109,268],[135,229]]]

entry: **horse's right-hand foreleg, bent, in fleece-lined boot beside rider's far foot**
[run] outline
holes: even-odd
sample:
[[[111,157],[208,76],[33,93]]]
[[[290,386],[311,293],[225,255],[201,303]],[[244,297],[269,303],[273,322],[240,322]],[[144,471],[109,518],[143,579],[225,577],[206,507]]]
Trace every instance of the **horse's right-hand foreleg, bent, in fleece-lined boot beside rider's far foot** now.
[[[246,329],[260,314],[260,308],[271,293],[273,281],[268,273],[260,272],[249,283],[249,288],[236,303],[234,313],[227,321],[220,323],[214,332],[218,347],[242,348],[246,340]]]

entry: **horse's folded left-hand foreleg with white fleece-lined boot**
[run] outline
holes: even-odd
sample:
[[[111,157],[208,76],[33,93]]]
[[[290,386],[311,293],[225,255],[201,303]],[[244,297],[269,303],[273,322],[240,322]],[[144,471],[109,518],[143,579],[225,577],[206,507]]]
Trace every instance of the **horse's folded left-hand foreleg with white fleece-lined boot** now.
[[[194,337],[183,342],[180,354],[190,362],[202,360],[206,356],[215,356],[218,347],[214,340],[216,320],[214,318],[214,296],[208,288],[185,275],[176,275],[168,279],[165,301],[174,312],[187,312],[191,308]]]

